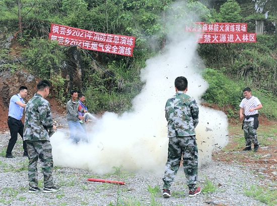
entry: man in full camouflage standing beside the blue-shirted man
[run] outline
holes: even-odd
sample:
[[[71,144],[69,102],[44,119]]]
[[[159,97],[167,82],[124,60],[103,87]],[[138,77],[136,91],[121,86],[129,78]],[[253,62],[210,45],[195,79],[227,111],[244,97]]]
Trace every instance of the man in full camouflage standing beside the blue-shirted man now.
[[[26,105],[23,139],[27,144],[29,165],[29,192],[38,192],[38,158],[44,176],[43,192],[56,192],[53,186],[53,158],[50,136],[56,126],[53,125],[49,102],[45,99],[49,94],[50,83],[42,80],[37,84],[37,93]]]

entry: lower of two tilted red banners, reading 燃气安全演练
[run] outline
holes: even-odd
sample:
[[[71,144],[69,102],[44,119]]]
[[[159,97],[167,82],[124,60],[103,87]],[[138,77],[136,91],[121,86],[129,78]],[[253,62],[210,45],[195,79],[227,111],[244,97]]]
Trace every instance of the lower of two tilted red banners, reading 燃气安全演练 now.
[[[133,46],[121,46],[116,44],[107,44],[102,42],[87,41],[84,39],[68,38],[65,35],[49,33],[49,39],[58,41],[60,45],[78,45],[83,49],[113,53],[125,56],[132,56]]]

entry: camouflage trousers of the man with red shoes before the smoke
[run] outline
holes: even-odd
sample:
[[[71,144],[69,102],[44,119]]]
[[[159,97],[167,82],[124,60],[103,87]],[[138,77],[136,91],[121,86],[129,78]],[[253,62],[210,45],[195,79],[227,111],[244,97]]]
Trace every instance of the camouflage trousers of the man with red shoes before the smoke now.
[[[182,153],[187,185],[197,183],[198,148],[195,136],[169,138],[163,189],[170,190],[170,186],[180,167]]]

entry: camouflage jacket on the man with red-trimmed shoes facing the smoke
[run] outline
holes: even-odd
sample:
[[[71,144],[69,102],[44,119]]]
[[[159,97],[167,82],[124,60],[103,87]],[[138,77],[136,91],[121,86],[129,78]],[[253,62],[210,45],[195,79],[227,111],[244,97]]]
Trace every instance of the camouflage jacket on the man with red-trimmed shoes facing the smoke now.
[[[178,91],[167,100],[165,117],[168,123],[168,138],[195,135],[199,109],[193,97]]]

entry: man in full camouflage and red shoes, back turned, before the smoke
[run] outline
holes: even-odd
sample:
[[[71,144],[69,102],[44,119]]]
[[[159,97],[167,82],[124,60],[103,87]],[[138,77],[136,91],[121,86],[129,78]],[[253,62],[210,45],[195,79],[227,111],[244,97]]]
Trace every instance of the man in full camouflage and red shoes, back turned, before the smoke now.
[[[189,188],[189,196],[201,192],[197,184],[198,149],[195,140],[195,127],[198,124],[198,106],[193,97],[186,95],[187,79],[175,79],[176,94],[167,100],[165,117],[168,122],[168,157],[163,177],[163,196],[170,197],[170,186],[180,167],[183,168]]]

